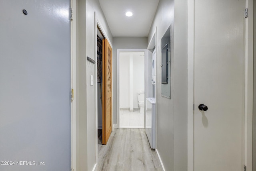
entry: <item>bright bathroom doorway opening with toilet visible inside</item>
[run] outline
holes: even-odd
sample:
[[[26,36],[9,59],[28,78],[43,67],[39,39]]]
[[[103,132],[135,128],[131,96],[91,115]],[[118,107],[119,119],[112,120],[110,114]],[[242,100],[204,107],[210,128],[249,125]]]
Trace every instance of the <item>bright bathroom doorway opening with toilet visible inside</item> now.
[[[145,52],[119,53],[119,128],[144,128]]]

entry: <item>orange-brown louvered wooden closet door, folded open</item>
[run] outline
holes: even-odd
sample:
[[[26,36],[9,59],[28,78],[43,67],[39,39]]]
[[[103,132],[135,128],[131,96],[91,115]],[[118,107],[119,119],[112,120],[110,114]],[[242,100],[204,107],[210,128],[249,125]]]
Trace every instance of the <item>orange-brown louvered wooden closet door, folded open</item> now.
[[[102,65],[102,144],[106,144],[112,131],[112,48],[107,39],[103,39]]]

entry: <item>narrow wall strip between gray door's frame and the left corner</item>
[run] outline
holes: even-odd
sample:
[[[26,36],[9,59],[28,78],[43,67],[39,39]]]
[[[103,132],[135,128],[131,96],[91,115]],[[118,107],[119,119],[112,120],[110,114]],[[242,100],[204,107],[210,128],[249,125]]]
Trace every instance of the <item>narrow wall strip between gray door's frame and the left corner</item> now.
[[[77,1],[76,27],[76,168],[87,169],[87,117],[86,117],[86,3]],[[79,50],[78,50],[79,49]],[[82,145],[83,144],[83,145]]]

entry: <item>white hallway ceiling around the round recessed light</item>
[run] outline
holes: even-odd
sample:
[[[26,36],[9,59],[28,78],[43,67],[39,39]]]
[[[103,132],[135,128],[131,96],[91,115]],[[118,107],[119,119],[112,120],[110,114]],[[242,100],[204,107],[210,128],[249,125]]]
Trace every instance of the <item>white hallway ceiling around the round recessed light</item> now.
[[[159,0],[99,0],[113,37],[147,37]],[[131,11],[133,16],[125,13]]]

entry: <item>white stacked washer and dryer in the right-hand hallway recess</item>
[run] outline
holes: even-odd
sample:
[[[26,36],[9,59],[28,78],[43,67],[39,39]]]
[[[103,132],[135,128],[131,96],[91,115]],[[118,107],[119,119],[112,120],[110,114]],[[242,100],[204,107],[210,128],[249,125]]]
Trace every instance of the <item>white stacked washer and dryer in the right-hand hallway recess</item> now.
[[[152,54],[152,84],[153,96],[146,98],[146,134],[150,147],[156,148],[156,49]]]

